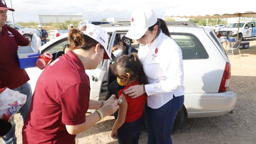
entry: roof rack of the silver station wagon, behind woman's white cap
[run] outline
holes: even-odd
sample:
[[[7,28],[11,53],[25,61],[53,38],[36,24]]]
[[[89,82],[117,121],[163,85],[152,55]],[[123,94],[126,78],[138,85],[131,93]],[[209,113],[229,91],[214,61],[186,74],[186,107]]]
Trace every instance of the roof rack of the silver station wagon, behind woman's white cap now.
[[[166,21],[167,26],[186,26],[186,27],[198,27],[195,23],[190,21]],[[107,23],[99,25],[101,27],[111,27],[111,26],[131,26],[131,22],[120,22],[120,23]]]

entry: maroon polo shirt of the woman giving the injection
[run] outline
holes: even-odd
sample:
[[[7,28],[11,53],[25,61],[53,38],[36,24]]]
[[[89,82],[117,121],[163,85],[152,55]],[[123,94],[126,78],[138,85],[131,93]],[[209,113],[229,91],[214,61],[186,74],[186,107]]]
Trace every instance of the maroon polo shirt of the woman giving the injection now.
[[[23,143],[75,143],[65,125],[85,122],[90,81],[71,51],[51,62],[37,80],[22,129]]]

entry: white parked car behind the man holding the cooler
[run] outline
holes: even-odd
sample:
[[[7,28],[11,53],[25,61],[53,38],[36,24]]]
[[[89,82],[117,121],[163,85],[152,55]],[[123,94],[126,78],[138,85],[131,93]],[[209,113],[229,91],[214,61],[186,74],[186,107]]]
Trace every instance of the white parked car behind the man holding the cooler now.
[[[27,28],[27,27],[22,27],[20,25],[18,25],[17,23],[13,23],[13,22],[7,22],[5,23],[5,25],[12,27],[16,30],[19,31],[19,33],[21,35],[23,35],[26,39],[28,39],[29,41],[32,40],[32,36],[35,32],[37,32],[37,29],[32,29],[32,28]]]

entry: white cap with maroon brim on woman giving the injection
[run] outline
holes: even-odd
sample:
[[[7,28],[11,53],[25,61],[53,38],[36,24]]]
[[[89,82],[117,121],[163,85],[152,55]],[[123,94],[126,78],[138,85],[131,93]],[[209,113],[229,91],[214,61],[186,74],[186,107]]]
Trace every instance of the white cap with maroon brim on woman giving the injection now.
[[[105,49],[103,59],[111,59],[111,56],[107,50],[107,43],[109,39],[109,35],[105,30],[103,30],[100,26],[95,26],[94,24],[87,24],[86,30],[81,31],[83,34],[88,35],[89,37],[93,38],[97,42],[99,42]]]

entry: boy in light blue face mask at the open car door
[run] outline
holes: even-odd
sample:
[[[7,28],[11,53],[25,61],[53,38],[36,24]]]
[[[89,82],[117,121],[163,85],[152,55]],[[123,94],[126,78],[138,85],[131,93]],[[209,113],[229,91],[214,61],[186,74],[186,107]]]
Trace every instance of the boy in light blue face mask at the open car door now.
[[[112,48],[112,53],[115,57],[121,57],[122,55],[128,55],[132,52],[138,53],[132,46],[126,45],[125,42],[121,42],[119,37],[115,37],[114,45]]]

